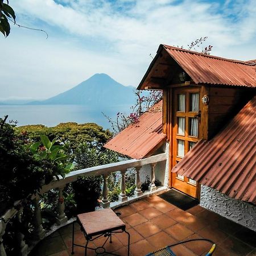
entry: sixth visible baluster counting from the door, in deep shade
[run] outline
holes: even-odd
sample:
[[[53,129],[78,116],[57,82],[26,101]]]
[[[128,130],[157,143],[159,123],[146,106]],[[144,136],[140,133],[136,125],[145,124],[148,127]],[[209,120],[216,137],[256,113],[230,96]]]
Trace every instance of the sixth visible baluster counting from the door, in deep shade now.
[[[46,235],[46,231],[43,229],[43,226],[42,226],[41,208],[40,208],[38,195],[36,195],[35,199],[33,200],[33,203],[35,206],[35,212],[34,212],[35,229],[33,233],[36,240],[41,240]]]

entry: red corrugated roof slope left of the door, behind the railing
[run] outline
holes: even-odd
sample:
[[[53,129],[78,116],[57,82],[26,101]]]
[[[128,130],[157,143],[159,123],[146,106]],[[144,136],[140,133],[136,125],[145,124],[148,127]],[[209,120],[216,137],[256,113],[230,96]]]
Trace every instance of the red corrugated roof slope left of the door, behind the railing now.
[[[135,159],[142,159],[166,138],[162,131],[163,101],[152,106],[139,117],[138,123],[129,125],[104,147]]]

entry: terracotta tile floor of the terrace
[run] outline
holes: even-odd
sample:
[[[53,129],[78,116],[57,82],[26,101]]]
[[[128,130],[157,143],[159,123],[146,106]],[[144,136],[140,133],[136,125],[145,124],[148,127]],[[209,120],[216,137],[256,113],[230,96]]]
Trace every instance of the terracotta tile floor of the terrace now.
[[[150,196],[116,209],[121,213],[126,229],[131,235],[130,255],[143,256],[177,241],[209,238],[217,243],[214,256],[256,255],[256,233],[227,220],[199,205],[187,211],[176,208],[158,196]],[[85,238],[76,225],[76,243],[85,243]],[[101,244],[102,238],[90,242],[90,247]],[[30,256],[71,255],[72,225],[59,229],[44,239]],[[127,255],[127,235],[114,234],[113,243],[106,249],[119,255]],[[176,255],[205,255],[210,245],[197,241],[172,247]],[[84,255],[84,249],[75,246],[75,256]],[[87,255],[95,255],[88,250]]]

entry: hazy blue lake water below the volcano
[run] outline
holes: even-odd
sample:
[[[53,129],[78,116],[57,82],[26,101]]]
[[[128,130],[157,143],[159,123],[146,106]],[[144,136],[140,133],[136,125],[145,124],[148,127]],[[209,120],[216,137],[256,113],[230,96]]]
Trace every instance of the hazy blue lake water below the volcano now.
[[[97,109],[82,105],[20,105],[0,106],[0,117],[9,115],[7,121],[18,121],[18,126],[40,124],[51,127],[63,122],[92,122],[110,129],[108,119],[101,112],[110,118],[116,118],[118,112],[128,114],[129,111],[130,105]]]

